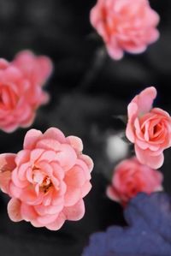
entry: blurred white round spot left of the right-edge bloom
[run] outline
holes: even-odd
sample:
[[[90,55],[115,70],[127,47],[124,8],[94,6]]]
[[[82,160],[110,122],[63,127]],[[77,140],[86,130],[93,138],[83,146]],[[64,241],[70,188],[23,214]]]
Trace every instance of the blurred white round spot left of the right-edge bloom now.
[[[106,154],[110,162],[116,162],[127,157],[128,145],[121,139],[120,134],[109,135],[106,144]]]

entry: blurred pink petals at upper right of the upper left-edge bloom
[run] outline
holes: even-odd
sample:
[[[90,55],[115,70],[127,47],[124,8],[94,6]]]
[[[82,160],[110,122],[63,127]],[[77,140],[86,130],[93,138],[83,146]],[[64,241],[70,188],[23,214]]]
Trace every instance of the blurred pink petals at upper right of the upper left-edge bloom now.
[[[19,52],[13,61],[13,65],[21,70],[27,80],[40,86],[44,86],[44,82],[49,78],[53,69],[49,57],[36,57],[32,51],[28,50]]]

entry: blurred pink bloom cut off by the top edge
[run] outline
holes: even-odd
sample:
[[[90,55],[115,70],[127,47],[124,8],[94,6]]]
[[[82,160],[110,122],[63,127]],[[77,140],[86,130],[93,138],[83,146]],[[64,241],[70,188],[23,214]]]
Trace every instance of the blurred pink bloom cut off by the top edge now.
[[[124,51],[141,53],[159,38],[159,15],[148,0],[97,0],[91,9],[91,25],[97,29],[115,60]]]

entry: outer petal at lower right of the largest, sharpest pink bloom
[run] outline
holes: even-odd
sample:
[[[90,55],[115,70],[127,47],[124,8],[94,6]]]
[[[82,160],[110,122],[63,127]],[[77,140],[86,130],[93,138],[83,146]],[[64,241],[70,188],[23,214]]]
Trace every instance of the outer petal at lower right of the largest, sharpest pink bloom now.
[[[71,207],[65,207],[63,213],[68,220],[80,220],[85,215],[85,204],[83,199],[80,199],[79,202]]]

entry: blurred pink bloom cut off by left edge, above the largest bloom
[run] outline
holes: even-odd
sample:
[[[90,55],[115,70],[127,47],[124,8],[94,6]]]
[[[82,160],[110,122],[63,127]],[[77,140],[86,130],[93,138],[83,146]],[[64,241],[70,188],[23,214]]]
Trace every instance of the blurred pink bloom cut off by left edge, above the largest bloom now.
[[[38,107],[49,100],[38,82],[43,83],[50,74],[50,60],[45,57],[33,59],[32,56],[31,61],[31,53],[28,52],[21,53],[21,59],[22,56],[26,62],[30,56],[30,61],[24,65],[24,62],[19,61],[20,57],[18,61],[16,59],[15,63],[22,63],[21,67],[0,59],[0,129],[7,133],[19,127],[29,127]]]

